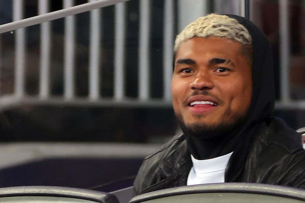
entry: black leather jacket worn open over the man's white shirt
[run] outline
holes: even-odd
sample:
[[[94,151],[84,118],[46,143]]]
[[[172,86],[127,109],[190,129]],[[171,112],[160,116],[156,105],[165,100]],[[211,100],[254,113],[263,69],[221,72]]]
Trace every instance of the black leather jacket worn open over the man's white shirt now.
[[[246,163],[230,179],[230,168],[238,161],[230,158],[225,182],[305,188],[305,150],[301,146],[301,135],[279,118],[269,120],[258,126],[247,152],[233,152],[247,153]],[[191,167],[185,138],[182,133],[175,135],[159,151],[144,159],[134,182],[135,194],[184,186]]]

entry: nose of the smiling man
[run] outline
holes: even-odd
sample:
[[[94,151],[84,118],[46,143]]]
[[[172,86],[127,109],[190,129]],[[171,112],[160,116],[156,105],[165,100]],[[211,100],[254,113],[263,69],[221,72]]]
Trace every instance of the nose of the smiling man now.
[[[193,82],[190,83],[193,90],[208,90],[213,89],[214,82],[208,72],[198,73]]]

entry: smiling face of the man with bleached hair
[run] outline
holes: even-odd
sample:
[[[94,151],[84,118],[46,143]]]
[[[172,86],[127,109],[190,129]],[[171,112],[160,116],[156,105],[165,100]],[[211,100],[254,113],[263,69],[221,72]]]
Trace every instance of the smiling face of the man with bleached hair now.
[[[193,37],[182,42],[171,82],[177,118],[187,128],[232,126],[249,109],[252,71],[237,41]]]

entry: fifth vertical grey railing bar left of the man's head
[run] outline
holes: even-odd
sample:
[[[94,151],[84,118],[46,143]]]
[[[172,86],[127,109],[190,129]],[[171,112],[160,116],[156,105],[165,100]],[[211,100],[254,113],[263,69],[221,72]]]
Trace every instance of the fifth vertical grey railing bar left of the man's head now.
[[[64,0],[64,9],[72,7],[73,0]],[[75,16],[65,17],[65,47],[64,47],[64,97],[74,97],[74,56],[75,56]]]

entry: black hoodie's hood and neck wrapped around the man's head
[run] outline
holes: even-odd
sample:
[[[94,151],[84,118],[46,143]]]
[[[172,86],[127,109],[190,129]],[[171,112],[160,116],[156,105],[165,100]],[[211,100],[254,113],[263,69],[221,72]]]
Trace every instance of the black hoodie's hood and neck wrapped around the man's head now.
[[[274,110],[274,74],[271,46],[267,37],[250,20],[236,15],[227,15],[246,27],[252,37],[252,99],[245,119],[226,136],[215,140],[204,140],[184,132],[188,149],[196,159],[211,159],[233,151],[244,151],[249,147],[258,124],[269,118]],[[237,158],[236,153],[233,159]],[[245,160],[246,154],[238,155]],[[242,162],[238,162],[242,163]],[[241,168],[241,166],[235,166]]]

